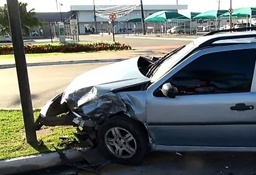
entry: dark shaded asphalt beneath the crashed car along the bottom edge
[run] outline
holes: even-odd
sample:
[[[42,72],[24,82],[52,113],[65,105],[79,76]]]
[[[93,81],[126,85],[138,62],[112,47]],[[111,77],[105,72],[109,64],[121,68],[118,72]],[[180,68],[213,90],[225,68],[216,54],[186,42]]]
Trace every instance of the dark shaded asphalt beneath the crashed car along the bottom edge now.
[[[255,154],[252,153],[185,153],[175,154],[154,152],[145,159],[142,165],[130,167],[108,165],[101,171],[102,175],[255,175]],[[67,166],[34,171],[22,175],[75,175],[77,169]],[[93,175],[81,171],[78,175]],[[21,174],[19,174],[21,175]]]

